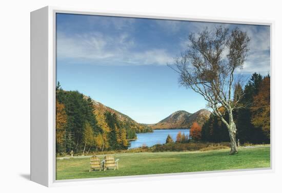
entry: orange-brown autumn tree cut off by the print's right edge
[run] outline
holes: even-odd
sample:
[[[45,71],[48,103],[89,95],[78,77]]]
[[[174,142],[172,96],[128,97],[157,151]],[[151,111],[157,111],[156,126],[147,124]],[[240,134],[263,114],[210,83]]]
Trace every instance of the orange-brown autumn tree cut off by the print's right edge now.
[[[261,127],[264,134],[270,139],[270,77],[266,76],[260,83],[258,94],[254,96],[251,106],[252,123]]]

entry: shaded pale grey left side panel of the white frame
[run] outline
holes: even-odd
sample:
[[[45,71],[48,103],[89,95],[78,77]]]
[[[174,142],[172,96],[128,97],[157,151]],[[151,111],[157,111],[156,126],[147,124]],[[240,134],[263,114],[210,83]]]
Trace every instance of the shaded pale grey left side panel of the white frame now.
[[[48,186],[48,8],[31,12],[30,179]]]

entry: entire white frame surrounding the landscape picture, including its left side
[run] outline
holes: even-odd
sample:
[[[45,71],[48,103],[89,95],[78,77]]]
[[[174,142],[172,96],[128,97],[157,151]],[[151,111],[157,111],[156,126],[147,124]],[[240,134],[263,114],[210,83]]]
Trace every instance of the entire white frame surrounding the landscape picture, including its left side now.
[[[122,176],[74,180],[55,180],[55,86],[56,48],[55,14],[73,13],[107,15],[197,22],[267,25],[271,30],[271,167],[255,169],[235,169],[220,171],[200,171],[193,173],[172,173],[141,176]],[[77,8],[44,7],[31,12],[31,180],[45,186],[65,186],[79,184],[105,184],[118,182],[151,181],[162,179],[183,179],[195,177],[230,176],[245,174],[273,173],[274,169],[274,67],[273,67],[273,27],[274,21],[254,19],[227,19],[159,13],[131,13],[117,11],[97,11]],[[40,40],[40,41],[39,41]],[[44,42],[44,44],[43,44]],[[39,63],[39,65],[38,65]],[[48,83],[48,85],[46,85]],[[42,92],[41,92],[42,91]],[[48,98],[47,98],[48,97]],[[44,150],[43,150],[44,149]],[[236,171],[234,173],[234,171]]]

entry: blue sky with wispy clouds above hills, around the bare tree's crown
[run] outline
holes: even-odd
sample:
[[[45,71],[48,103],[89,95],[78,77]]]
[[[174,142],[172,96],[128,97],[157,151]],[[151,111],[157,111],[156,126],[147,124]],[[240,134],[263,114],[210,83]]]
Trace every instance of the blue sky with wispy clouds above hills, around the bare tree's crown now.
[[[57,14],[57,81],[140,123],[206,108],[202,96],[179,87],[167,63],[185,51],[189,33],[222,25],[251,38],[246,77],[270,72],[270,28],[177,20]]]

